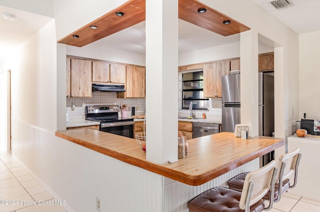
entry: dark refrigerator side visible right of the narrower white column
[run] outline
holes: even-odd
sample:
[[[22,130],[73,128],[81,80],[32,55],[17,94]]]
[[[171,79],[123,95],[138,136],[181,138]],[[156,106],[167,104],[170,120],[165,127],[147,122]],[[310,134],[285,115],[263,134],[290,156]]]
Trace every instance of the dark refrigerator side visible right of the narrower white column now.
[[[274,79],[273,72],[258,73],[259,135],[272,136],[274,132]],[[274,151],[260,157],[260,166],[274,159]]]

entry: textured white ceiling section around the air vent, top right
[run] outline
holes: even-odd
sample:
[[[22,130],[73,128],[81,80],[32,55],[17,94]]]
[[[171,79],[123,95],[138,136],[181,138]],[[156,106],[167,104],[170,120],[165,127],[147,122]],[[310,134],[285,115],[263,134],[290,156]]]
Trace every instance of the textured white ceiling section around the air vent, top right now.
[[[288,0],[291,6],[276,9],[271,0],[253,0],[296,33],[320,30],[320,0]]]

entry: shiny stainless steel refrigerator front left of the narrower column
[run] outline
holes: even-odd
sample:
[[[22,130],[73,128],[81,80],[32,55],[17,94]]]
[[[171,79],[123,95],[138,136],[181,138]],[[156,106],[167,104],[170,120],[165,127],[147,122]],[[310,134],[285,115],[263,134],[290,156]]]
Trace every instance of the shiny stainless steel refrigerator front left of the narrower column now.
[[[240,74],[222,76],[222,132],[240,123]]]

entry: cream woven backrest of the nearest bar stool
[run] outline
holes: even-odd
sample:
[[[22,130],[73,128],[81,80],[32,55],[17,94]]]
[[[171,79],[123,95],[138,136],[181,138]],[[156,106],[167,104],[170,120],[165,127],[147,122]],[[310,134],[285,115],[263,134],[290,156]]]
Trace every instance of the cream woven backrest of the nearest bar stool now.
[[[271,196],[274,194],[274,183],[278,168],[275,160],[265,166],[249,172],[244,179],[239,207],[248,211],[250,205],[260,200],[271,188]],[[273,193],[272,193],[273,192]],[[272,207],[273,198],[270,200]]]

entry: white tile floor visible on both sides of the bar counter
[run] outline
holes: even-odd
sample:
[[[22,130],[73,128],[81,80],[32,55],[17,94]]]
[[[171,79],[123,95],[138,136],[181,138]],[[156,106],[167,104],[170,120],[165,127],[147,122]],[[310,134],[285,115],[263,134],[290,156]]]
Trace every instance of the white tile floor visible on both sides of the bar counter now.
[[[0,151],[0,200],[14,200],[12,204],[0,204],[0,212],[65,212],[59,204],[35,204],[29,202],[54,202],[53,197],[8,152]],[[7,201],[7,203],[8,203]],[[23,205],[23,202],[26,204]],[[273,204],[270,212],[320,212],[320,201],[283,193],[281,200]]]

